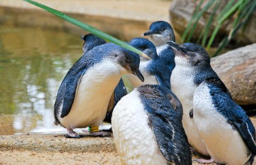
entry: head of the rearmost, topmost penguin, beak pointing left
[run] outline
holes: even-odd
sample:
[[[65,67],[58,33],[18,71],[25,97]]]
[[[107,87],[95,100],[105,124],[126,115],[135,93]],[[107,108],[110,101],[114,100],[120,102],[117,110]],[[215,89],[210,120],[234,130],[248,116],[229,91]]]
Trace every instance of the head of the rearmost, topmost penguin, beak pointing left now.
[[[172,26],[165,21],[156,21],[151,23],[149,30],[143,36],[149,36],[149,40],[155,46],[166,44],[167,41],[175,41],[175,36]]]

